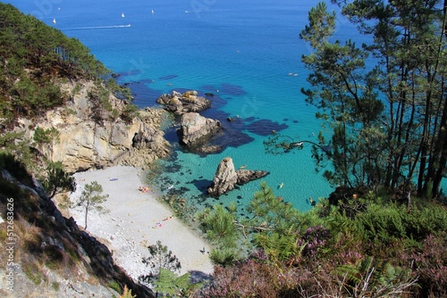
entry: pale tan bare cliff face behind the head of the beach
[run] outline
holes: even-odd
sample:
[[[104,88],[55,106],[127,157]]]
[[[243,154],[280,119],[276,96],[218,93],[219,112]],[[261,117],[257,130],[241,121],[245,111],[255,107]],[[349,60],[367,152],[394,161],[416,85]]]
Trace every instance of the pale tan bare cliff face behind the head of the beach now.
[[[109,95],[107,108],[98,108],[89,98],[93,83],[84,82],[77,92],[73,84],[63,89],[71,101],[40,120],[20,120],[16,129],[32,138],[36,128],[56,128],[58,137],[51,144],[36,146],[50,161],[62,161],[67,172],[114,164],[143,166],[169,153],[169,143],[158,129],[162,110],[139,111],[139,117],[124,121],[114,114],[124,111],[126,103]]]

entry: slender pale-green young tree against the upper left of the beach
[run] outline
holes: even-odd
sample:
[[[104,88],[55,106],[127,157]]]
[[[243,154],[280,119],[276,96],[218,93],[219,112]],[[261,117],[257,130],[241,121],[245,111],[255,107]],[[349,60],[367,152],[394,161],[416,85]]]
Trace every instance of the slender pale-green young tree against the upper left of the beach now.
[[[103,192],[103,186],[92,181],[84,186],[84,190],[78,199],[78,202],[74,203],[74,206],[79,206],[85,211],[85,229],[87,229],[87,219],[90,210],[102,211],[103,207],[101,203],[104,203],[109,195],[101,195]]]

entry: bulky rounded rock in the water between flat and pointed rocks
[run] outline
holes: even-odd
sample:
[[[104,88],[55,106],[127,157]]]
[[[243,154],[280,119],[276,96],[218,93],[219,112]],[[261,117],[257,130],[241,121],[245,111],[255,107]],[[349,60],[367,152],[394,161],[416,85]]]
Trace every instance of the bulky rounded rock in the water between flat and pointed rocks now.
[[[179,137],[182,144],[197,146],[221,129],[221,122],[200,116],[197,112],[187,112],[181,116]]]

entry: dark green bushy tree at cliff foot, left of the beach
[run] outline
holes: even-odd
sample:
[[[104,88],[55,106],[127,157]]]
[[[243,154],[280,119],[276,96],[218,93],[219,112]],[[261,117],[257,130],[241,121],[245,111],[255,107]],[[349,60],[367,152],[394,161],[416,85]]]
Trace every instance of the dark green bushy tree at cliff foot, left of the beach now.
[[[60,161],[51,161],[46,168],[46,179],[43,181],[46,193],[50,198],[64,191],[74,191],[76,183],[74,178],[63,170]]]

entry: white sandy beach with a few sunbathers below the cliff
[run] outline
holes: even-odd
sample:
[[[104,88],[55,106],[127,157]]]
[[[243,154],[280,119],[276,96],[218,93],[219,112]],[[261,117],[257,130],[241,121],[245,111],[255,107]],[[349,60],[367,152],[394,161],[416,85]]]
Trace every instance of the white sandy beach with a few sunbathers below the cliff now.
[[[149,268],[141,262],[148,256],[148,245],[160,240],[181,261],[181,274],[199,271],[213,272],[213,265],[207,253],[208,244],[192,232],[180,219],[163,220],[173,215],[167,207],[156,201],[156,194],[149,190],[142,193],[139,186],[145,186],[139,175],[142,171],[132,167],[112,167],[77,173],[77,189],[71,200],[76,198],[86,184],[97,181],[103,187],[103,195],[109,195],[102,206],[108,212],[89,211],[88,232],[105,243],[114,252],[114,261],[127,273],[137,279],[147,274]],[[117,178],[117,180],[111,180]],[[71,210],[70,215],[80,227],[84,227],[84,211]],[[159,222],[162,227],[156,227]]]

